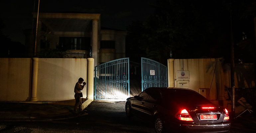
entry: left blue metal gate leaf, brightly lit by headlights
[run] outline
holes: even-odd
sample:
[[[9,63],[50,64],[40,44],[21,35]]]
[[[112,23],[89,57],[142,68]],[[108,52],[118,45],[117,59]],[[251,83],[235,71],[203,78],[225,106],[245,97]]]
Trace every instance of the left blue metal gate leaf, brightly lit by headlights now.
[[[94,99],[130,97],[129,58],[112,60],[95,66]]]

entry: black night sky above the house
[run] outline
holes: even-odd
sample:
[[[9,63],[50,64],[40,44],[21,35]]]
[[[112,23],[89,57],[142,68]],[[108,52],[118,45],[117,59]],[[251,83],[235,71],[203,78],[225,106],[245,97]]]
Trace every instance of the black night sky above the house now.
[[[155,0],[40,0],[39,12],[101,14],[101,26],[119,30],[135,20],[146,20]],[[35,12],[37,12],[36,0]],[[25,43],[24,29],[32,28],[34,0],[1,0],[2,34],[12,41]]]

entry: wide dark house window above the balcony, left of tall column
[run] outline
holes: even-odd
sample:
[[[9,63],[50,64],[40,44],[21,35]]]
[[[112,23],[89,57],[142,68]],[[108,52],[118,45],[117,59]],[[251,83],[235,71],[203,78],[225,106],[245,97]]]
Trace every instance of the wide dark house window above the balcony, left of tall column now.
[[[90,37],[60,37],[59,48],[65,50],[90,50]]]

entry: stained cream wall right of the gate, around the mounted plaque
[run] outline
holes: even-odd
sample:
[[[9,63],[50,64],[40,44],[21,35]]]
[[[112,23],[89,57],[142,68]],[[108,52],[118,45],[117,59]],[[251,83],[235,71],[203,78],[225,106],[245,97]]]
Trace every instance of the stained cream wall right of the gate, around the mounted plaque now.
[[[221,72],[219,60],[214,58],[208,59],[175,59],[174,60],[174,75],[175,87],[177,87],[177,75],[179,70],[189,71],[190,79],[183,80],[189,81],[190,89],[198,92],[199,88],[206,88],[206,97],[209,100],[223,100],[223,83],[221,81]],[[215,69],[216,66],[216,69]],[[215,74],[214,74],[215,69]],[[181,80],[180,80],[181,81]],[[218,88],[218,89],[217,89]],[[209,93],[210,92],[210,93]],[[209,96],[208,96],[209,94]]]

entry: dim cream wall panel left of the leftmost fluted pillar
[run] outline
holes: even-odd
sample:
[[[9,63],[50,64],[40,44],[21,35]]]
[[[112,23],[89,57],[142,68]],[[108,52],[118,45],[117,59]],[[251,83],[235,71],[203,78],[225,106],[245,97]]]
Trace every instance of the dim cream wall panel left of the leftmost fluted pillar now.
[[[0,58],[0,101],[28,99],[31,64],[31,58]]]

